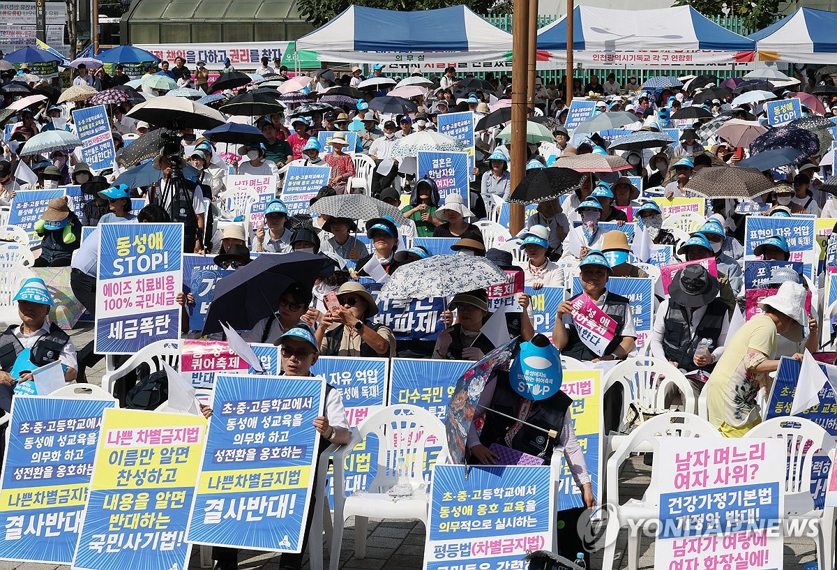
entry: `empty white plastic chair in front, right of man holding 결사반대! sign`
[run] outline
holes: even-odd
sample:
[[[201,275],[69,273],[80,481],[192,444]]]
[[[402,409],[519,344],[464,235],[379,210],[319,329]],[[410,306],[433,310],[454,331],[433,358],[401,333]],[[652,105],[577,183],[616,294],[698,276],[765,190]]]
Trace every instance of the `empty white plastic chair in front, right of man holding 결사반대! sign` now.
[[[356,491],[345,496],[344,463],[357,444],[369,434],[377,435],[377,473],[365,492]],[[416,520],[428,528],[429,487],[424,481],[424,454],[429,445],[441,445],[437,464],[447,461],[444,424],[433,413],[411,405],[388,406],[370,414],[352,431],[352,439],[334,451],[334,532],[331,536],[330,570],[340,565],[343,525],[348,517],[355,517],[355,557],[366,557],[367,522],[369,517]],[[323,454],[323,456],[327,456]],[[383,494],[398,480],[398,465],[403,460],[408,479],[413,485],[411,498],[391,501],[367,494]],[[315,537],[311,533],[311,537]]]

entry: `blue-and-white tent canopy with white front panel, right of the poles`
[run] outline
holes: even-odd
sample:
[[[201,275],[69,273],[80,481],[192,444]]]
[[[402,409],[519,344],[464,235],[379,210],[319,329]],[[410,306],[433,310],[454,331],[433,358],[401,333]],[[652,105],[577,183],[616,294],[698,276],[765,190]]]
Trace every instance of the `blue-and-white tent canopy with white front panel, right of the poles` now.
[[[567,17],[537,33],[537,49],[566,61]],[[691,6],[656,10],[573,10],[576,63],[595,67],[695,67],[750,62],[756,44],[712,22]],[[540,59],[540,58],[539,58]],[[548,64],[538,67],[549,67]]]

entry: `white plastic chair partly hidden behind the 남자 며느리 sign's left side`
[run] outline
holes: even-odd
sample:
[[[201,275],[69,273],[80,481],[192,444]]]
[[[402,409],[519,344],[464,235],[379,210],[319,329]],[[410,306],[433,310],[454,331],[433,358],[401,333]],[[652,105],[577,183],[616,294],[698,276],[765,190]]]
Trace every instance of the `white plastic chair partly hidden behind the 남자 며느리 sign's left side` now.
[[[692,413],[670,412],[649,419],[625,439],[608,459],[607,493],[608,521],[604,534],[604,558],[602,570],[613,570],[616,538],[623,526],[628,527],[628,568],[639,567],[639,546],[645,526],[656,525],[660,517],[659,464],[651,466],[651,481],[642,501],[619,501],[619,466],[634,452],[660,452],[660,440],[664,437],[720,438],[712,424]]]

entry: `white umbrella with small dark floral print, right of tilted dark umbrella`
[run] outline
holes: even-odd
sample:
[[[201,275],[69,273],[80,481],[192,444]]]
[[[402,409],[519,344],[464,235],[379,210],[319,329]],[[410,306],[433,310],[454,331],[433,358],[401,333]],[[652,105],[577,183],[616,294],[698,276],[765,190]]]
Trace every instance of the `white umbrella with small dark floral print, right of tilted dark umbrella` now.
[[[433,255],[403,265],[389,276],[378,300],[446,297],[506,283],[506,272],[484,257]]]

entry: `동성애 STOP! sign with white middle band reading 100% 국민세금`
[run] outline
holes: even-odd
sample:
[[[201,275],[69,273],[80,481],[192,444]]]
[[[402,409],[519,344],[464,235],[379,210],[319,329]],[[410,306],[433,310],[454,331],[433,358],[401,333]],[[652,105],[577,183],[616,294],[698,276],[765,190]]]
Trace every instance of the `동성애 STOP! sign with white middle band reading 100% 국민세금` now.
[[[182,252],[181,223],[102,224],[95,352],[131,354],[180,336]]]

